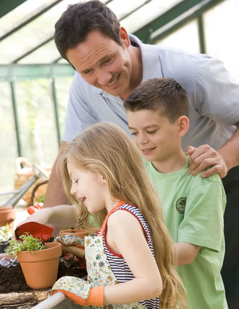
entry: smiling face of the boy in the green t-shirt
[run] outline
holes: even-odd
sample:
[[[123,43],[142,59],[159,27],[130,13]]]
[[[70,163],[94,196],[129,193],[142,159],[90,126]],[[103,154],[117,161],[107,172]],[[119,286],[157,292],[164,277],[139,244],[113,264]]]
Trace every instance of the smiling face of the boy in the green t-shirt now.
[[[133,141],[147,161],[164,161],[178,151],[178,121],[170,123],[159,111],[127,111]]]

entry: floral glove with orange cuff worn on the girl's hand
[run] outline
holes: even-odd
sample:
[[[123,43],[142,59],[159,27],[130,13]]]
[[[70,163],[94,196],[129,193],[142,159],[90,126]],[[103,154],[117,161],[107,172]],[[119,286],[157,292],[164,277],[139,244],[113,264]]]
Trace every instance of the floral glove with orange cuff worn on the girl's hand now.
[[[48,297],[57,292],[64,293],[78,305],[104,306],[104,286],[91,287],[90,283],[77,277],[61,277],[48,292]]]

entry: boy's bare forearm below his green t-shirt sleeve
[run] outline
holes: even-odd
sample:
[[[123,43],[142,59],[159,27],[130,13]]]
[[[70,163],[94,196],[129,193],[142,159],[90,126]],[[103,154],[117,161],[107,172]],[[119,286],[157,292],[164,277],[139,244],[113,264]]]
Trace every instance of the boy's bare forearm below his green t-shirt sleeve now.
[[[175,243],[172,246],[172,252],[176,260],[176,265],[191,264],[199,252],[200,246],[193,245],[192,243]]]

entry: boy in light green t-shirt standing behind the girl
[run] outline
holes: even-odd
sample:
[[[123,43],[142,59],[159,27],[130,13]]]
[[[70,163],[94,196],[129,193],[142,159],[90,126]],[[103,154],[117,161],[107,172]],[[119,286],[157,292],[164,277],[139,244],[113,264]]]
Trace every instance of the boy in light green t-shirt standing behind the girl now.
[[[226,196],[218,174],[206,179],[188,175],[190,157],[181,148],[189,127],[187,92],[175,80],[149,79],[124,107],[133,141],[162,200],[189,308],[228,308],[220,275]]]

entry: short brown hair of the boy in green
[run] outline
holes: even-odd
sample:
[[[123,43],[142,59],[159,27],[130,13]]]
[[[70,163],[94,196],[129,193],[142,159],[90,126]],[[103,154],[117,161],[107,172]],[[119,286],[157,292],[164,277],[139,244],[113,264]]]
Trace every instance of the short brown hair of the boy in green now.
[[[159,110],[162,116],[175,122],[189,114],[187,91],[171,78],[153,78],[138,86],[124,101],[124,108],[131,112],[140,109]]]

